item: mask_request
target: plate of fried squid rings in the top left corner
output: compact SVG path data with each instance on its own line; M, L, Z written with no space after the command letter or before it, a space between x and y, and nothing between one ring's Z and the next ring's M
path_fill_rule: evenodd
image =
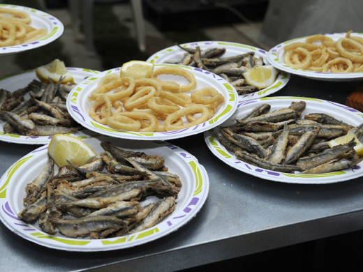
M31 50L57 40L64 25L56 17L25 6L1 4L0 54Z

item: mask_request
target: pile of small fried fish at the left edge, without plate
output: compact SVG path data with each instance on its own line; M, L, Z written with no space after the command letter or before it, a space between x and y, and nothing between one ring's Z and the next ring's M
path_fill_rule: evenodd
M67 112L66 99L75 84L54 84L32 80L24 88L10 92L0 89L0 120L3 133L49 136L77 133L80 126Z

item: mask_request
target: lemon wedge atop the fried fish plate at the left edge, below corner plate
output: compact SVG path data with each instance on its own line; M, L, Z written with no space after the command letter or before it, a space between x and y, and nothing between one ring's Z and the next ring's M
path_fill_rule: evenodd
M67 70L64 62L59 59L54 59L54 61L36 68L36 76L39 80L46 83L49 82L49 79L52 80L52 82L57 83L60 77L64 77L61 82L63 84L68 82L74 83L71 73Z

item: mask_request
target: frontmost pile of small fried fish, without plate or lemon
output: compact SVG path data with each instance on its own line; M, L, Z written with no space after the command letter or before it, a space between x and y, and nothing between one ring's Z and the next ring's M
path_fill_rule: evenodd
M18 218L48 234L103 239L140 232L175 210L182 182L163 156L128 151L110 142L90 163L69 163L54 174L50 156L28 183ZM151 199L151 200L150 200Z

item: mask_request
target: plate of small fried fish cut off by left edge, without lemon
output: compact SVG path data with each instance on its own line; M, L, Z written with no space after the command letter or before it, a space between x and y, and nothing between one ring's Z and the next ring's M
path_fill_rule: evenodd
M67 68L75 83L41 82L35 70L0 78L0 140L17 144L47 144L56 133L83 129L67 112L68 93L98 71Z

